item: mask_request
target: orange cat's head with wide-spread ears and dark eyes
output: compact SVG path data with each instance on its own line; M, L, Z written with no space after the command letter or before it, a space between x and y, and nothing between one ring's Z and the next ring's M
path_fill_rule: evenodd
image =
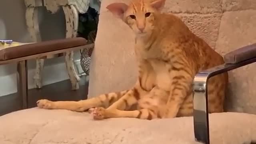
M165 0L132 0L129 5L113 3L106 8L121 18L137 36L151 34L155 26L155 15L164 7Z

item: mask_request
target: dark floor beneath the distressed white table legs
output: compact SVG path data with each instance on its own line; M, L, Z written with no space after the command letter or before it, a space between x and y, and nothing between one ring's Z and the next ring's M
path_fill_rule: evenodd
M39 99L49 100L84 100L88 94L88 81L82 76L80 80L80 89L71 90L69 80L57 82L41 89L28 90L28 107L36 106L36 101ZM0 96L0 116L21 109L20 98L17 94Z

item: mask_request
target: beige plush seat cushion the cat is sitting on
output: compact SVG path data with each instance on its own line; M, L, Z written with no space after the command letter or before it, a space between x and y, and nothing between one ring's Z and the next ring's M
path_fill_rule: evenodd
M256 115L210 114L211 144L256 142ZM92 120L86 112L30 108L0 116L0 144L200 144L193 118Z

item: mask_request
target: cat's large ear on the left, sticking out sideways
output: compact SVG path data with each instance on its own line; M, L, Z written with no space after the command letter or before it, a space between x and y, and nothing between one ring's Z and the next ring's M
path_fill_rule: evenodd
M124 12L127 10L128 5L124 3L113 3L106 7L117 18L123 18Z

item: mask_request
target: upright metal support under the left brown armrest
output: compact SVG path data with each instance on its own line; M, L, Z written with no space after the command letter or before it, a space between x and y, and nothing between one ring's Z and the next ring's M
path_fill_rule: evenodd
M22 109L28 108L28 66L26 60L17 63L17 90Z

